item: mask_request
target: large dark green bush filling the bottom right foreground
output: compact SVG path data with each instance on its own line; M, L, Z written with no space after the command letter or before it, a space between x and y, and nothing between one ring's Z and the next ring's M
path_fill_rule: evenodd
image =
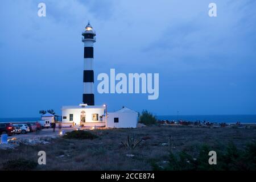
M256 170L256 142L247 144L245 150L238 150L233 143L229 143L222 151L216 150L217 164L210 165L208 152L213 150L207 145L199 147L199 154L192 157L185 151L177 154L170 152L168 165L159 168L152 164L153 170L167 171L255 171Z

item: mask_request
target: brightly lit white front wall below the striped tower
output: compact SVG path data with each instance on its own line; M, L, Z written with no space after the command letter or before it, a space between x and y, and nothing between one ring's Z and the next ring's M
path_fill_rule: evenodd
M67 119L62 119L62 122L75 122L79 125L81 120L81 111L85 111L85 122L99 122L92 120L92 114L98 114L99 120L100 116L104 114L104 108L62 109L62 117L67 117ZM73 121L69 120L69 114L73 114Z

